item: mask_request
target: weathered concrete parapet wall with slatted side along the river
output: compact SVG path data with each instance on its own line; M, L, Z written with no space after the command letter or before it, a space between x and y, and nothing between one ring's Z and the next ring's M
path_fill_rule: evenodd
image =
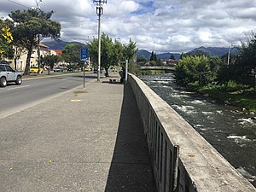
M136 76L137 99L160 192L254 192L256 189L160 96Z

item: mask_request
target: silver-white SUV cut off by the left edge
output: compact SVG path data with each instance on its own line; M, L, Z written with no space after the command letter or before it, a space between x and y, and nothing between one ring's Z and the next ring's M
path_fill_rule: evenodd
M20 85L22 83L21 73L12 69L8 64L0 63L0 87L6 87L9 82Z

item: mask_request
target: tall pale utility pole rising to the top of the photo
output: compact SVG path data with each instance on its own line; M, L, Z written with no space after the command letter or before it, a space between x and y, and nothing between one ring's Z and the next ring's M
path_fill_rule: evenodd
M103 14L102 3L107 4L107 0L93 0L93 3L96 3L96 14L98 15L98 73L97 73L97 81L100 81L101 78L101 15Z

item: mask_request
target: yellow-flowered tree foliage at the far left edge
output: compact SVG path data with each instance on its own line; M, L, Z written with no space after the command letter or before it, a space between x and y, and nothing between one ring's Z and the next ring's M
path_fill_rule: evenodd
M14 40L10 32L12 22L9 20L0 19L0 59L12 57L13 49L12 42Z

